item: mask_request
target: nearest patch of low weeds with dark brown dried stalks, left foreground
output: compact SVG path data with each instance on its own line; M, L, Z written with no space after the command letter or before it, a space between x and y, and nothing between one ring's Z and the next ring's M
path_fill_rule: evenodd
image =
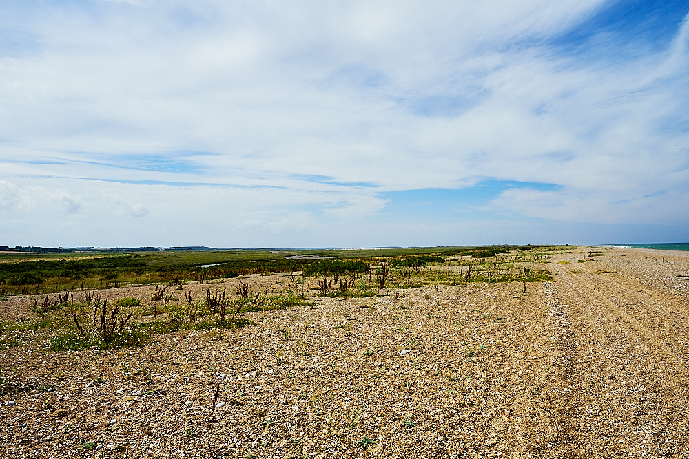
M28 343L28 333L41 331L49 332L45 348L52 351L130 348L144 345L154 334L240 328L252 323L241 317L246 312L310 304L290 292L267 295L265 290L252 292L248 284L242 285L245 288L236 295L227 295L226 289L208 289L206 298L196 301L189 295L186 304L167 298L145 306L139 299L125 297L110 307L92 290L78 294L76 300L73 293L58 295L59 301L45 295L41 303L35 301L40 306L34 308L33 319L0 322L0 350Z

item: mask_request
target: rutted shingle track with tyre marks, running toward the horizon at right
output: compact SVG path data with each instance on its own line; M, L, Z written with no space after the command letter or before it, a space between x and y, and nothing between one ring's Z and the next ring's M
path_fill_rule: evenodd
M579 259L553 260L543 286L561 384L553 456L687 457L686 301Z

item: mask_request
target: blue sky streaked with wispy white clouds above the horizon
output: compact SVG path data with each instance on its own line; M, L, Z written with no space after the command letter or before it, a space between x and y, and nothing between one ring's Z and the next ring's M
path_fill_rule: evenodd
M688 14L0 0L0 245L689 241Z

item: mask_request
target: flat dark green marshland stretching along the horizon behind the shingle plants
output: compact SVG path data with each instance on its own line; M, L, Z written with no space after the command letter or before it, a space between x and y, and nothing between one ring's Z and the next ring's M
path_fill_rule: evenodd
M529 259L525 261L538 262L546 259L548 254L566 253L567 250L570 248L563 246L199 251L146 247L112 250L21 248L0 254L0 299L11 295L129 284L203 283L208 279L251 274L302 271L307 276L349 276L353 273L361 276L366 274L366 266L378 265L381 259L390 259L391 268L407 268L416 274L426 270L426 266L442 264L446 259L457 256L499 261L501 254L521 253L528 254ZM304 256L327 257L327 260L294 258ZM339 281L335 284L339 287Z

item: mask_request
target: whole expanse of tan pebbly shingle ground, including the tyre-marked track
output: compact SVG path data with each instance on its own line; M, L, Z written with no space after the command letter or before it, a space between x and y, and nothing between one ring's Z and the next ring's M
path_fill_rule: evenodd
M0 396L0 457L689 458L689 254L588 250L526 294L313 297L143 348L8 348L3 376L34 389Z

